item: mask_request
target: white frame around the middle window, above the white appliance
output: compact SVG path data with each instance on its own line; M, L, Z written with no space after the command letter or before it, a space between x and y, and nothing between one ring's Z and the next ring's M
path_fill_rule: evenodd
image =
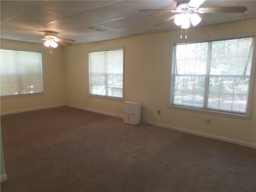
M91 94L90 93L90 56L89 54L92 52L105 52L105 51L113 51L113 50L123 50L123 83L122 83L122 98L121 97L114 97L114 96L106 96L106 95L96 95L96 94ZM89 50L87 52L88 56L88 96L92 98L100 98L100 99L108 99L108 100L116 100L116 101L124 101L124 54L125 54L125 49L124 46L118 46L114 48L104 48L104 49L96 49L96 50Z

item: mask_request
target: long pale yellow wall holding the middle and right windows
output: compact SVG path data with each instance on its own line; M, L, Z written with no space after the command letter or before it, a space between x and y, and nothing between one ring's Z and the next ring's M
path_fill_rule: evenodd
M255 35L256 20L188 29L190 40ZM252 118L241 120L216 115L168 109L170 46L180 42L180 31L133 36L65 47L67 104L122 116L123 102L88 96L88 51L125 46L124 100L140 102L142 118L202 134L256 144L255 85ZM183 40L184 41L184 40ZM157 110L161 110L161 115ZM211 124L204 119L210 118Z

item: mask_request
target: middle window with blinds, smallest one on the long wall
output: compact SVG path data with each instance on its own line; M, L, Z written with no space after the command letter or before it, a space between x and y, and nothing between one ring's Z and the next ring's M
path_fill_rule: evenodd
M90 94L123 98L123 49L89 53Z

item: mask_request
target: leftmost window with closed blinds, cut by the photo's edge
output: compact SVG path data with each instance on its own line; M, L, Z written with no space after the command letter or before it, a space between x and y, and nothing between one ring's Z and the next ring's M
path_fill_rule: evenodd
M1 96L43 92L41 53L0 51Z

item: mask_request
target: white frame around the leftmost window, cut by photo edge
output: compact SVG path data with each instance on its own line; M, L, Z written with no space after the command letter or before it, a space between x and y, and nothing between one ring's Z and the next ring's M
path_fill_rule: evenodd
M42 73L42 92L35 92L35 93L24 93L24 94L12 94L12 95L0 95L1 99L8 99L8 98L18 98L18 97L26 97L26 96L38 96L38 95L44 95L44 66L43 66L43 57L44 53L42 50L36 49L36 50L28 50L28 49L15 49L15 48L6 48L1 47L1 50L10 50L10 51L23 51L23 52L35 52L41 54L41 73Z

